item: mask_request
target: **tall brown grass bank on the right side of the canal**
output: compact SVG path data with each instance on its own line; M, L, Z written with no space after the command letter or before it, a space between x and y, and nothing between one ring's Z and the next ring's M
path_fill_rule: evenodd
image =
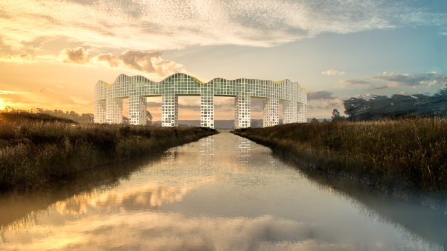
M237 129L235 134L385 190L447 191L447 120L336 120Z

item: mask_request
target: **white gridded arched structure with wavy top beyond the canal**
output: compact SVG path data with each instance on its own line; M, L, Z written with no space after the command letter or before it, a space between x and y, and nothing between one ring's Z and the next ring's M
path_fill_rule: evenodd
M214 128L214 97L235 97L235 129L250 127L250 98L263 99L263 127L307 122L307 91L290 80L272 81L214 78L208 83L177 73L160 82L143 76L121 74L112 84L98 81L94 87L95 123L122 124L122 100L129 98L129 124L146 124L146 97L162 97L162 126L178 126L178 96L200 96L201 127Z

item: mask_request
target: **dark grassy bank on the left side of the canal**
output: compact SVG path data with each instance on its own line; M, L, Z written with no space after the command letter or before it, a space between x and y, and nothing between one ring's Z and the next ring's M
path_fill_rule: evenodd
M34 189L49 179L165 151L215 133L197 127L80 124L0 113L0 192Z

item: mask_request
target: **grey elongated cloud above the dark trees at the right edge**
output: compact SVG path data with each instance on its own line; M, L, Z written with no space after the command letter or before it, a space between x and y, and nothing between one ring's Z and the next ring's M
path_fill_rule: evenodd
M424 72L422 74L398 74L395 72L368 76L371 80L388 82L389 87L431 87L434 85L443 85L447 83L447 76L438 75L437 72Z

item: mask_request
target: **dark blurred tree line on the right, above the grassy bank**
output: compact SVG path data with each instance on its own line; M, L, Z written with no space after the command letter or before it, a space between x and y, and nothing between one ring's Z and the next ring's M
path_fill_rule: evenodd
M369 100L349 98L343 101L345 116L337 109L332 111L334 120L377 120L380 118L399 118L406 115L445 116L447 114L447 85L432 96L414 94L411 96L394 94L373 96Z

